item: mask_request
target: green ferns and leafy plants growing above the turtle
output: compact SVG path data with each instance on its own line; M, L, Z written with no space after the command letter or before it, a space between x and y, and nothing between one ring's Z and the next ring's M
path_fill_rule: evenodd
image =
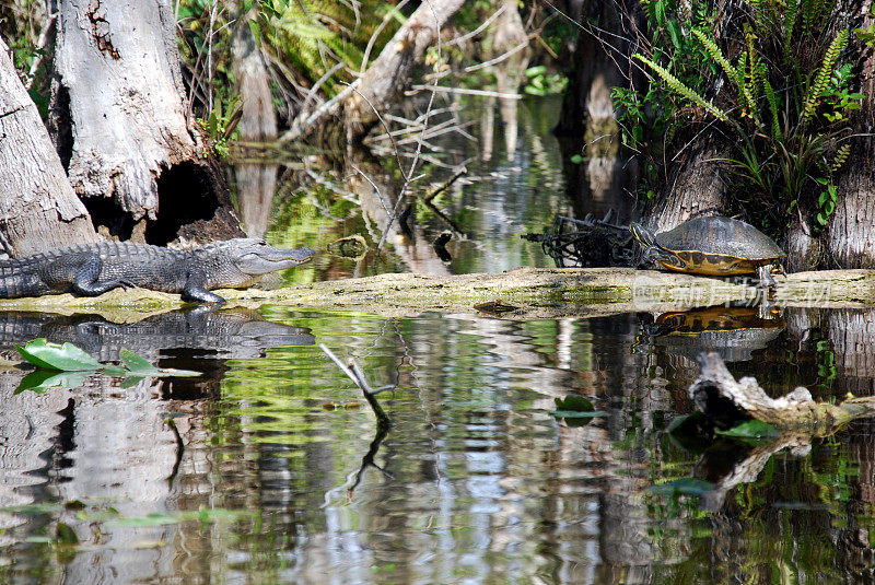
M833 175L850 153L843 124L864 98L852 91L850 32L837 30L836 0L748 0L745 14L720 26L701 1L690 10L672 0L643 4L655 32L635 58L654 81L646 91L615 91L614 101L623 141L642 153L644 167L658 166L662 154L649 134L670 140L690 118L710 119L735 136L727 162L755 187L739 206L756 202L765 223L785 225L803 204L816 229L827 225L840 197ZM727 26L736 28L723 39Z

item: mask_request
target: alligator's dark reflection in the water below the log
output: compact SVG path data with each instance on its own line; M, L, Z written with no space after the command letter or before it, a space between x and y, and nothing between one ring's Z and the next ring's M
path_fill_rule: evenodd
M119 351L128 349L161 367L203 373L197 378L162 381L164 399L218 396L226 360L254 360L264 358L268 348L315 342L305 327L267 321L258 312L243 308L199 307L152 315L136 323L113 323L98 315L0 314L0 348L11 351L13 343L40 337L56 343L69 341L102 362L118 361ZM8 372L2 386L21 375L18 371Z

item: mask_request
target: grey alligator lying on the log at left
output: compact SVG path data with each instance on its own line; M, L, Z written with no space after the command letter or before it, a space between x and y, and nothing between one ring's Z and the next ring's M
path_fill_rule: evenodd
M212 289L241 289L275 270L313 258L311 248L275 248L240 237L175 250L131 242L79 244L24 258L0 260L0 299L73 293L97 296L140 286L180 293L183 301L223 304Z

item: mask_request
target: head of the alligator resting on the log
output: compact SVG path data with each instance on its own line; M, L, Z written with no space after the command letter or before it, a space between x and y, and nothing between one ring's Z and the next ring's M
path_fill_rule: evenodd
M259 277L284 270L300 264L308 262L316 253L311 248L284 249L275 248L267 242L256 237L238 237L219 242L213 249L219 250L225 261L233 266L237 276L231 274L210 274L217 280L228 279L220 282L223 286L242 286L255 282ZM241 279L241 277L243 277ZM240 282L243 280L243 282Z

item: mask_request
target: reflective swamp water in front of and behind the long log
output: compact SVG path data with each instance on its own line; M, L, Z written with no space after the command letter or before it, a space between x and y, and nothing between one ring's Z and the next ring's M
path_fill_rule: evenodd
M416 208L390 255L324 254L288 278L546 266L516 234L604 201L593 191L563 203L558 147L527 107L513 154L470 163L489 179L439 201L467 236L450 265L418 245L446 222ZM317 189L282 189L273 213L285 223L275 224L288 227L269 233L275 243L380 233L376 212L365 221ZM686 390L705 348L773 396L796 385L821 400L873 394L875 311L516 320L264 306L119 320L0 315L4 351L47 337L102 361L128 348L203 373L15 394L24 373L0 372L0 581L873 578L871 422L784 449L698 440L673 422L692 411ZM318 343L354 358L372 386L395 385L377 397L390 428ZM569 396L597 416L569 414Z

